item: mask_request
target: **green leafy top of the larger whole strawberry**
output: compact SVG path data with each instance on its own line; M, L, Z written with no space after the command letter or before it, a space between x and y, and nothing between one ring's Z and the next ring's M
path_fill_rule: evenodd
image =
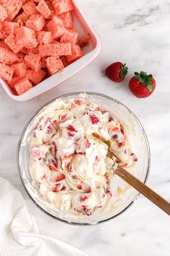
M141 82L141 84L146 85L146 88L151 92L153 90L153 76L152 74L147 74L141 71L140 74L135 72L135 79Z

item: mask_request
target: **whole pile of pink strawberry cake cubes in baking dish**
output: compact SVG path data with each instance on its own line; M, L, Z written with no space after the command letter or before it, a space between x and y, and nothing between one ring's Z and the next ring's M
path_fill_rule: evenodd
M73 11L71 0L0 1L0 77L14 94L83 56Z

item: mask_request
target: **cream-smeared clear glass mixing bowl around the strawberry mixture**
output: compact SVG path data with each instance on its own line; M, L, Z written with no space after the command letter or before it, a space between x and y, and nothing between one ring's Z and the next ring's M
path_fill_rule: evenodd
M145 183L146 179L148 178L150 168L150 149L146 132L144 131L137 117L132 111L130 111L130 109L119 101L100 93L69 93L62 95L59 98L66 101L69 98L79 97L85 98L86 101L97 103L99 106L109 110L115 114L118 119L120 119L126 129L126 135L128 136L128 140L130 141L133 151L138 156L138 162L135 163L135 166L128 168L128 171L134 174L138 179L140 179L140 181ZM130 187L130 185L128 185L126 182L122 181L122 179L120 179L120 177L116 174L112 179L113 196L109 201L109 204L106 208L104 208L104 210L95 211L93 216L73 216L69 213L53 208L52 205L40 197L37 189L32 184L32 177L30 176L29 171L29 141L37 120L40 119L40 116L42 116L45 109L48 108L49 104L53 103L55 100L56 98L46 103L35 113L34 116L32 116L32 119L30 119L26 127L24 127L19 140L17 150L17 165L19 175L22 179L22 184L24 185L27 194L30 196L32 201L35 202L35 205L37 205L37 207L40 208L40 210L42 210L44 213L57 220L71 224L94 225L115 218L119 216L120 213L125 213L125 210L127 210L130 205L133 205L133 202L135 202L135 200L138 198L139 193L133 189L133 187Z

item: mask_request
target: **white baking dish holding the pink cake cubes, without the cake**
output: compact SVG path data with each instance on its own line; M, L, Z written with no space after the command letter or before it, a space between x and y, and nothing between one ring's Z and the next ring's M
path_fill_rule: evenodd
M79 31L80 35L91 35L89 46L83 48L84 56L70 64L68 67L65 67L61 72L53 74L53 76L40 82L40 84L36 85L34 88L28 90L22 95L14 95L13 91L9 88L9 85L7 85L6 82L0 78L2 87L15 101L28 101L31 98L35 98L36 96L55 88L55 86L61 84L61 82L67 80L69 77L73 76L73 74L76 74L81 69L86 67L86 65L99 54L101 46L97 33L95 33L93 27L91 27L91 24L86 19L84 12L82 12L76 1L72 0L72 2L74 6L74 26Z

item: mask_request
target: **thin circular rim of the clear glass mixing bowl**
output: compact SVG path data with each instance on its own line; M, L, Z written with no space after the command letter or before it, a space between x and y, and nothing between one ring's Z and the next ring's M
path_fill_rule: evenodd
M70 95L80 95L80 94L87 94L87 95L96 95L96 96L100 96L100 97L103 97L103 98L107 98L109 101L115 101L115 103L118 103L120 105L122 105L129 113L130 115L132 115L134 118L135 118L135 121L137 121L141 131L143 132L143 137L145 138L145 142L146 142L146 148L147 148L147 154L148 154L148 168L147 168L147 171L146 171L146 177L145 177L145 180L144 180L144 184L146 184L147 182L147 179L148 179L148 175L149 175L149 171L150 171L150 166L151 166L151 150L150 150L150 146L149 146L149 143L148 143L148 137L146 135L146 132L145 132L145 129L143 128L143 125L140 123L139 119L137 116L135 116L135 114L133 114L133 111L131 111L127 106L125 106L123 103L121 103L120 101L117 101L115 98L112 98L112 97L109 97L108 95L105 95L105 94L102 94L102 93L93 93L93 92L74 92L74 93L66 93L66 94L63 94L61 96L58 96L58 97L55 97L53 98L52 100L48 101L47 103L45 103L43 106L41 106L39 109L37 109L37 111L35 112L35 114L29 119L29 121L27 121L27 124L24 126L24 129L22 130L22 133L19 137L19 142L18 142L18 145L17 145L17 169L19 171L19 176L20 176L20 179L22 181L22 184L24 186L24 189L26 190L27 192L27 195L30 197L30 199L32 200L32 202L35 203L35 205L37 206L37 208L39 208L43 213L46 213L48 216L50 216L51 218L54 218L55 220L58 220L58 221L61 221L63 223L67 223L69 225L73 225L73 226L94 226L94 225L98 225L100 223L105 223L107 221L111 221L113 218L116 218L118 216L120 216L122 213L124 213L126 210L128 210L128 208L130 208L130 206L132 206L134 204L134 202L136 200L138 200L138 197L140 196L140 193L138 192L137 195L135 195L134 199L132 202L129 203L129 205L120 211L120 213L117 213L115 216L112 216L110 218L107 218L105 220L102 220L102 221L98 221L97 223L95 224L91 224L91 223L76 223L76 222L68 222L66 220L62 220L61 218L58 218L58 217L55 217L53 216L52 214L48 213L48 211L44 210L40 205L37 204L37 202L35 202L34 198L32 198L32 196L30 195L30 193L27 191L27 187L25 186L24 184L24 181L22 179L22 174L21 174L21 171L20 171L20 167L19 167L19 151L20 151L20 146L21 146L21 142L22 142L22 138L23 138L23 135L24 135L24 132L26 131L27 127L29 126L30 122L32 121L32 119L35 118L35 116L43 109L45 108L45 106L48 106L50 103L52 103L53 101L55 100L58 100L58 99L62 99L64 97L68 97Z

